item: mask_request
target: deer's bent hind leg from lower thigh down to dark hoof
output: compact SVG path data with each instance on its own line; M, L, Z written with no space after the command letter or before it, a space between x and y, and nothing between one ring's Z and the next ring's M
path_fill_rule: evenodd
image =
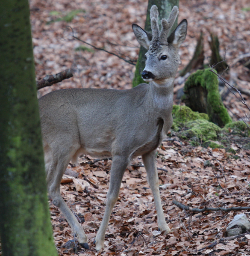
M56 156L55 154L51 158L51 164L49 166L49 170L47 171L48 192L53 200L53 204L60 209L71 226L71 229L73 230L79 244L83 248L88 249L87 235L60 194L62 176L71 160L71 157L72 155L70 154L63 154L63 156L61 155L60 157Z

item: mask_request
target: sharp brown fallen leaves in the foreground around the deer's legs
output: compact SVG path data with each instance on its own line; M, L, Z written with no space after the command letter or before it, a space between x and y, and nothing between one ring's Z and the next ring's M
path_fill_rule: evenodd
M216 154L216 155L215 155ZM171 155L171 157L165 157ZM236 155L247 155L238 149ZM171 233L164 236L158 231L157 214L146 173L135 159L126 170L118 202L109 221L102 252L94 250L94 237L100 226L109 187L111 161L99 161L89 166L89 158L80 159L80 167L71 167L78 178L64 176L70 183L62 184L62 194L72 210L82 220L88 235L89 250L76 247L79 255L228 255L233 252L250 252L250 246L239 237L223 240L224 229L238 213L204 211L194 213L176 207L176 199L190 208L244 207L248 206L249 159L232 158L225 150L190 147L182 142L179 148L174 142L163 142L158 149L157 163L167 169L159 170L160 192L163 208ZM210 161L209 166L203 166ZM181 168L180 168L181 166ZM237 168L236 168L237 167ZM238 169L241 170L238 170ZM237 169L237 170L235 170ZM84 174L83 174L84 173ZM88 176L86 176L86 174ZM85 177L92 181L87 182ZM95 187L98 185L98 188ZM74 250L62 247L73 239L68 223L57 208L51 208L56 245L61 255L74 255ZM56 217L57 216L57 217ZM60 223L59 223L60 220ZM221 240L222 239L222 240ZM244 249L244 250L243 250ZM221 254L219 254L221 253Z

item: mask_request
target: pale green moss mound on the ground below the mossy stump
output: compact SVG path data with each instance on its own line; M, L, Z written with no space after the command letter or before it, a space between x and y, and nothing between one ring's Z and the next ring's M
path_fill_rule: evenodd
M221 128L205 119L197 119L186 123L187 130L182 131L180 136L183 139L200 141L215 140L221 131Z

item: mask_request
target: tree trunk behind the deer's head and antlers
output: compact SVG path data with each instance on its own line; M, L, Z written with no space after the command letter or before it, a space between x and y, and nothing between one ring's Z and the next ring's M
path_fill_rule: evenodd
M145 27L144 29L146 31L151 32L151 25L150 25L150 8L152 5L156 5L158 7L158 12L159 12L159 24L160 20L162 18L168 18L170 15L170 12L174 6L179 6L179 0L148 0L148 6L147 6L147 18L145 22ZM173 31L177 26L177 19L172 27ZM135 77L132 82L132 86L135 87L140 83L145 83L144 80L141 78L141 72L143 71L145 67L145 54L147 50L141 46L140 51L139 51L139 56L138 60L136 63L136 69L135 69Z

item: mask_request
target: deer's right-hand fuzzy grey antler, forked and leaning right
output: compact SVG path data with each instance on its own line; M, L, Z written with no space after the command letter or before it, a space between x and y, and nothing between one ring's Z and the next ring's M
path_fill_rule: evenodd
M174 21L176 20L178 13L179 13L178 7L174 6L168 19L167 20L162 19L161 21L162 30L159 35L160 44L168 45L168 34L169 34L169 31L171 30L171 27L173 27L174 25Z

